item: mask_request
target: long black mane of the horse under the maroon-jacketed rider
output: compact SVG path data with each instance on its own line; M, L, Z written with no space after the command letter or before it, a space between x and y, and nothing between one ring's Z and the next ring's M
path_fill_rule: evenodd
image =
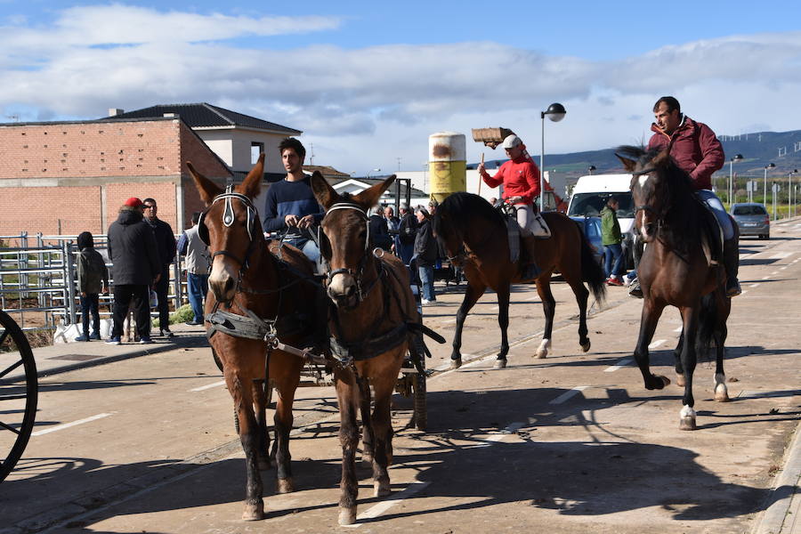
M655 194L666 199L667 211L660 231L667 243L683 251L692 244L700 244L703 233L700 230L707 228L708 217L705 216L706 207L702 206L695 196L695 187L690 174L677 166L673 158L663 157L664 150L622 146L616 153L637 160L643 168L653 164L661 169L662 179L659 180L659 188ZM637 176L632 177L632 188L637 178Z

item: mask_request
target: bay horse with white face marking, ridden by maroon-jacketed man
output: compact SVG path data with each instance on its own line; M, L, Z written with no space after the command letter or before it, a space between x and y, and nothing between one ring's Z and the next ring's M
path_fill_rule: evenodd
M643 315L635 360L647 389L662 389L670 380L651 374L648 345L665 306L676 306L683 329L674 355L676 376L684 386L679 428L695 430L692 373L699 352L716 344L715 400L729 400L724 375L726 320L732 301L725 295L726 274L710 261L718 232L714 215L693 193L690 176L676 166L667 151L620 147L618 158L632 174L635 225L646 244L637 266L643 287ZM737 228L737 224L732 225Z

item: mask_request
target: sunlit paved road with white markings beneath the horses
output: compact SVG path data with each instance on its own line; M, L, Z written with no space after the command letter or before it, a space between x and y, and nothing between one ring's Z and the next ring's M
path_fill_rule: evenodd
M497 303L485 295L465 329L472 361L429 380L426 433L405 426L409 401L397 399L393 494L372 498L362 470L356 528L801 531L794 515L785 517L798 476L785 449L799 418L799 236L792 222L775 225L770 241L742 242L745 292L733 302L726 360L732 402L712 400L714 362L701 362L692 433L678 430L676 385L643 388L630 357L642 301L624 288L611 287L606 306L594 309L593 346L582 353L572 295L556 284L554 352L534 360L540 303L536 291L517 287L510 366L501 370L492 368ZM461 294L439 288L443 303L426 307L425 320L449 337ZM651 345L659 374L673 376L679 326L668 310ZM0 533L342 530L333 388L299 392L295 493L275 495L274 472L263 473L268 518L240 522L244 465L231 399L201 333L184 330L155 347L162 352L121 360L114 356L139 347L91 345L96 362L104 353L112 361L57 372L66 360L53 360L55 352L41 360L56 374L41 380L36 435L0 485ZM432 348L429 367L447 365L449 346ZM797 501L789 510L798 513Z

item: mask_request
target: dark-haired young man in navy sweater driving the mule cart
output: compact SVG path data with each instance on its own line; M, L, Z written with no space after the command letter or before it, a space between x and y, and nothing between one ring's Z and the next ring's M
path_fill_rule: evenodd
M294 137L287 137L280 142L279 151L287 177L267 190L263 228L265 232L287 230L285 240L316 263L320 249L311 239L310 229L320 224L325 212L314 198L311 176L303 174L306 149Z

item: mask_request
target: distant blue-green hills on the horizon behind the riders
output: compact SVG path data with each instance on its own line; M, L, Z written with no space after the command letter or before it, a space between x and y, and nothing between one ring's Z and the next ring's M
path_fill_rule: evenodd
M729 175L728 161L735 154L742 154L742 161L735 163L733 170L740 178L763 178L765 166L774 163L775 168L768 170L768 178L787 178L790 171L801 169L801 130L791 132L756 132L754 134L718 135L723 143L726 154L726 164L718 171L718 176ZM589 166L595 166L593 174L624 172L620 161L615 157L614 148L606 150L590 150L587 152L572 152L570 154L546 153L546 170L563 173L568 182L575 182L579 176L589 174ZM539 155L533 155L539 164ZM506 159L487 162L488 168L497 163L500 165ZM468 166L475 168L475 165Z

